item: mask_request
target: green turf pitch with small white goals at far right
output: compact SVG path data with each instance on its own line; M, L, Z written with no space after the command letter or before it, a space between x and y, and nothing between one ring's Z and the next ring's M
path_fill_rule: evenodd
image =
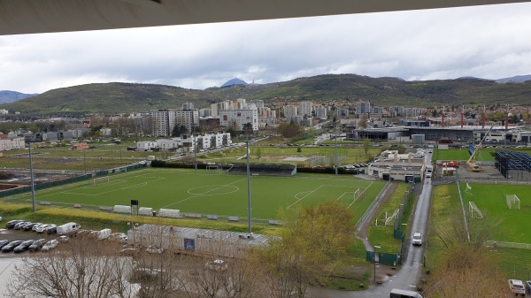
M528 186L492 185L469 183L472 195L465 195L467 202L474 202L485 218L500 222L496 233L497 241L531 243L529 218L531 218L531 193ZM461 185L465 191L466 184ZM517 195L520 210L510 210L505 195ZM468 203L466 203L468 211ZM473 219L481 220L481 219Z

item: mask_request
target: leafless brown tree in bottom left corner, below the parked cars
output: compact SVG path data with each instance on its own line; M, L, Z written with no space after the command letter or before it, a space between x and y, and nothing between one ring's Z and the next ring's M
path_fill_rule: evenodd
M9 281L13 298L135 297L127 281L133 259L118 257L109 243L76 239L50 252L25 257ZM31 277L28 279L27 277Z

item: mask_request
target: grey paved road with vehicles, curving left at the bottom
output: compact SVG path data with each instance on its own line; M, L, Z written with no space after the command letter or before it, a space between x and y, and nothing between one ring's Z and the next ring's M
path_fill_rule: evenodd
M427 153L427 161L431 161L432 154ZM418 187L418 186L417 186ZM432 181L424 180L422 192L417 201L411 226L411 233L419 232L426 234L427 220L429 218L429 205L431 200ZM373 286L366 291L335 291L326 289L312 289L312 297L334 297L334 298L387 298L393 288L414 290L423 271L424 247L413 247L409 241L406 241L407 252L402 267L396 271L396 275L383 280L379 286ZM378 271L378 266L376 268Z

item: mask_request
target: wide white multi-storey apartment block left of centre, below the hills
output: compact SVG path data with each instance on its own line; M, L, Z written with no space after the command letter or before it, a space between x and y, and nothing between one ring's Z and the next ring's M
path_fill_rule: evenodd
M193 126L199 126L199 111L197 110L153 110L150 111L153 120L154 135L168 136L172 134L176 124L186 126L192 132Z

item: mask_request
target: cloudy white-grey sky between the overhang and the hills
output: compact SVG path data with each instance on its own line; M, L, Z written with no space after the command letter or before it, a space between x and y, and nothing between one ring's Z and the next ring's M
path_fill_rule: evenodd
M531 3L0 36L0 90L96 82L203 89L322 73L404 80L531 73Z

